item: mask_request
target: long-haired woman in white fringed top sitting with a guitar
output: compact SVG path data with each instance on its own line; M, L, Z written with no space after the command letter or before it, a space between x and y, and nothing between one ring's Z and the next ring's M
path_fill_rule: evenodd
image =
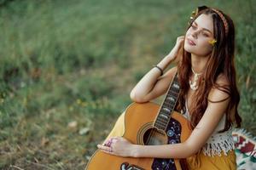
M236 169L231 136L240 97L234 66L235 28L230 17L216 8L198 8L184 37L131 91L131 99L143 103L165 94L175 73L181 86L177 108L189 120L192 133L183 143L131 144L113 137L98 148L116 156L187 158L189 169ZM183 53L180 54L179 50ZM162 75L166 67L177 66Z

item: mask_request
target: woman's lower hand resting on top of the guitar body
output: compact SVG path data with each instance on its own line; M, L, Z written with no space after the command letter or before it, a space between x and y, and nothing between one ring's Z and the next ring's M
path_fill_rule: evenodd
M104 142L97 144L97 147L108 154L114 156L128 157L132 156L134 144L122 137L112 137Z

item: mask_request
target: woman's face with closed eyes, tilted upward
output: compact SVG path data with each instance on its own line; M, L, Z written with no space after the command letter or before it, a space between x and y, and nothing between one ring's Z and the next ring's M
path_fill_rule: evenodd
M209 14L201 14L194 20L186 32L184 49L198 56L207 56L212 52L213 20Z

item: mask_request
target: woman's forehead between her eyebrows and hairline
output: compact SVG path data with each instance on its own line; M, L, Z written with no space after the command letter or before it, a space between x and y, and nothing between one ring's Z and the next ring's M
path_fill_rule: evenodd
M213 32L213 20L211 14L201 14L195 19L195 22L201 28L206 28Z

